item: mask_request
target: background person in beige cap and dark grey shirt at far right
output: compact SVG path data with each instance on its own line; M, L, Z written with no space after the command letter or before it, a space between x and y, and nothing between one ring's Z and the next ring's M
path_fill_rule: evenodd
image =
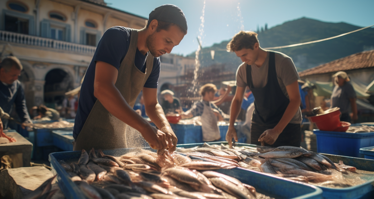
M356 104L357 96L352 84L349 83L350 80L347 73L339 71L332 77L334 78L335 87L331 94L330 108L340 108L340 121L351 122L351 117L349 115L349 106L351 106L353 114L352 120L356 121L358 119Z

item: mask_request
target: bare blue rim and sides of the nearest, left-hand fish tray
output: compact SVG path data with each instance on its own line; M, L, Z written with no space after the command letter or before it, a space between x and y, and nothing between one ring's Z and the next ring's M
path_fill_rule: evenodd
M200 144L200 146L201 145L202 144ZM183 147L185 146L186 145ZM150 148L144 149L151 150ZM131 149L104 150L103 152L106 155L121 156L129 151L131 151ZM85 198L85 196L79 187L70 180L67 172L59 164L59 161L77 161L80 155L80 151L58 152L49 155L52 172L58 174L57 179L59 187L65 197L69 199ZM260 172L248 172L248 170L243 168L233 168L230 170L220 169L215 171L235 177L242 183L254 186L257 192L276 199L322 199L322 190L316 186L284 180Z

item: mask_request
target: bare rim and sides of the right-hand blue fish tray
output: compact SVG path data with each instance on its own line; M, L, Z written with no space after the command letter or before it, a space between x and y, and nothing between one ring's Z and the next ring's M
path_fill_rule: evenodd
M204 143L196 143L196 144L180 144L179 147L192 148L192 147L201 147ZM227 144L227 142L210 142L212 144ZM248 147L257 147L253 144L244 144L244 143L236 143L237 147L248 146ZM374 148L374 147L371 147ZM339 155L330 155L330 154L323 154L327 156L327 158L331 159L332 162L339 162L343 161L345 165L349 165L352 167L356 167L358 170L362 171L371 171L374 172L374 160L370 159L363 159L363 158L352 158L348 156L339 156ZM242 168L240 168L242 169ZM263 175L268 175L265 173L243 169L246 172L256 172ZM277 178L273 175L269 175L271 177ZM235 176L233 176L235 177ZM323 186L318 186L323 190L323 197L325 199L373 199L374 198L374 176L373 177L363 177L367 182L363 184L359 184L352 187L346 188L328 188Z

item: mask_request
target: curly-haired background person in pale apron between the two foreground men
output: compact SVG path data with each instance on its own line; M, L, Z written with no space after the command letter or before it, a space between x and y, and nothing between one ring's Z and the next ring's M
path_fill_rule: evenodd
M216 91L217 87L214 84L203 85L199 90L203 99L196 102L190 110L181 115L182 119L201 116L204 142L212 142L221 138L217 122L223 121L225 114L214 103L211 103Z

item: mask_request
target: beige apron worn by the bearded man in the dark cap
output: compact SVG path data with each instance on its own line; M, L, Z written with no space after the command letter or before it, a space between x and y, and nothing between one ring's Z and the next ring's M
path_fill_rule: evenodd
M138 30L131 29L130 46L120 65L115 84L131 107L134 107L135 100L153 68L151 53L148 53L147 56L145 73L135 66L137 43ZM73 144L73 150L85 149L88 151L92 147L95 149L126 148L126 128L127 124L110 114L99 100L96 100L77 140Z

